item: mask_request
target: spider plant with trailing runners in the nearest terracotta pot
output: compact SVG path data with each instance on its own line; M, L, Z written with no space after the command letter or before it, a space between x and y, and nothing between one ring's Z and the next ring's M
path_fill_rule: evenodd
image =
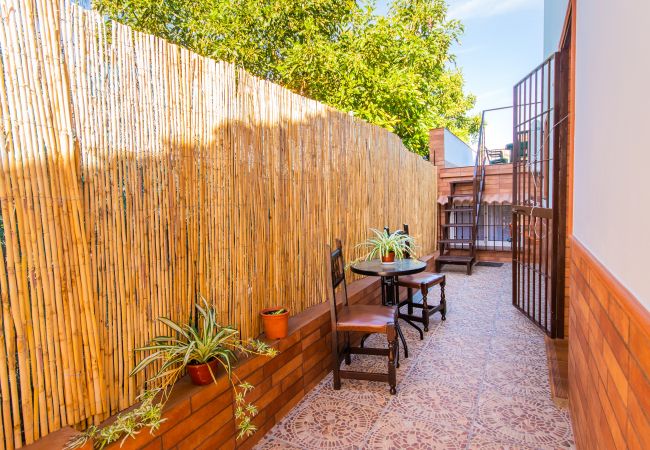
M257 407L246 401L246 395L254 388L248 382L242 382L233 372L233 366L239 356L251 354L274 357L278 351L264 342L249 339L243 342L239 331L230 326L221 326L217 321L217 310L201 297L201 304L196 304L195 324L180 325L173 320L160 317L158 320L172 332L172 336L157 336L149 345L136 351L151 352L142 359L130 375L133 376L152 365L159 365L148 384L158 387L146 390L141 396L137 408L118 414L115 422L106 427L91 426L82 434L75 436L66 445L66 449L83 446L93 441L93 447L103 449L107 445L129 437L135 437L143 428L150 428L153 433L166 419L162 410L169 398L176 381L182 376L189 364L206 364L217 360L225 369L233 390L235 400L235 421L239 430L237 439L248 436L257 429L252 419L257 415ZM215 374L210 369L213 381Z

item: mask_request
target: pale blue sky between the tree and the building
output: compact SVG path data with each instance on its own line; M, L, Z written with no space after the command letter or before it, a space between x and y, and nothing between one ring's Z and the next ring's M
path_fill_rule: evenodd
M389 0L378 0L385 12ZM512 105L512 87L543 60L544 0L447 0L449 16L465 26L454 47L475 113ZM492 113L488 146L511 142L512 113ZM491 142L492 141L492 142Z

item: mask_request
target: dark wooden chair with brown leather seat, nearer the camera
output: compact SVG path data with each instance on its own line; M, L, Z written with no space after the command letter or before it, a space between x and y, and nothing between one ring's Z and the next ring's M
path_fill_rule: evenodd
M332 286L330 310L332 317L332 362L334 368L334 389L341 389L341 379L356 379L369 381L384 381L390 386L390 393L395 394L395 354L397 353L397 307L382 305L348 305L348 289L345 281L345 263L341 241L336 240L336 248L332 251L327 246L327 274ZM336 289L343 285L343 304L337 308ZM350 345L350 333L380 333L386 335L387 348L362 348ZM339 345L339 333L344 335L342 345ZM387 373L357 372L341 370L341 362L351 363L350 355L377 355L388 359Z

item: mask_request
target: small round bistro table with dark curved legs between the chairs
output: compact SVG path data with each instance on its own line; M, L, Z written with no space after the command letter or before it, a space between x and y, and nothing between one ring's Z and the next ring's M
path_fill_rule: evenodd
M392 264L382 263L379 259L372 259L370 261L359 261L354 263L350 266L350 270L359 275L381 277L381 303L383 305L396 305L397 308L399 308L399 287L397 286L397 277L400 275L413 275L423 272L426 267L426 263L417 259L398 259ZM409 325L418 330L420 332L420 339L424 338L424 333L420 327L403 317L399 312L398 317L402 320L406 320ZM404 357L408 358L408 346L406 345L406 339L404 339L402 329L398 323L395 324L395 327L397 328L397 334L399 334L402 346L404 347ZM364 336L361 340L362 347L366 337L367 336Z

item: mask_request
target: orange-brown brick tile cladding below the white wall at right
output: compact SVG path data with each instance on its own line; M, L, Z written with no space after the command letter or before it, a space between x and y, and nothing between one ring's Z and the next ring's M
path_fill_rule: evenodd
M650 448L650 312L571 243L569 399L577 447Z

